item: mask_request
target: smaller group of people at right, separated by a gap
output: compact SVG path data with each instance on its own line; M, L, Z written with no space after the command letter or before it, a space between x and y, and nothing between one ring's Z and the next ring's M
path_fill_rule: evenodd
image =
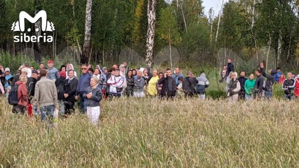
M287 73L287 79L278 67L271 69L269 74L265 72L264 63L260 64L260 68L255 70L255 75L250 74L249 79L245 76L245 72L238 74L234 72L232 60L227 60L227 65L223 66L220 82L226 82L225 92L228 96L228 101L235 102L240 99L250 100L262 97L271 99L273 96L273 85L280 84L285 92L285 99L294 99L299 97L299 75L294 72ZM266 81L264 80L266 78Z

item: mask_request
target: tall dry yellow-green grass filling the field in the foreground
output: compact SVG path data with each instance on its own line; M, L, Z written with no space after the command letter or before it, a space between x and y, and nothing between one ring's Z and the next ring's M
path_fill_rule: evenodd
M48 130L0 103L1 167L298 167L296 101L122 99Z

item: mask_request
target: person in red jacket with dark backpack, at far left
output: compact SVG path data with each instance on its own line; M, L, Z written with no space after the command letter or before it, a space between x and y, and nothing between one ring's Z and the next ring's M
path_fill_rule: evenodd
M18 98L17 104L13 105L12 107L12 112L15 114L20 113L24 115L26 106L28 105L26 83L27 83L27 76L25 75L21 75L19 81L15 83L17 85L17 98Z

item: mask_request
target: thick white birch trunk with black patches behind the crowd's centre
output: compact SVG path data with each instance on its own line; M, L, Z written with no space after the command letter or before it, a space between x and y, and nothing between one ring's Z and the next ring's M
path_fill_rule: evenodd
M147 34L147 58L146 66L153 66L153 42L154 42L154 30L155 30L155 9L157 1L148 1L148 34Z

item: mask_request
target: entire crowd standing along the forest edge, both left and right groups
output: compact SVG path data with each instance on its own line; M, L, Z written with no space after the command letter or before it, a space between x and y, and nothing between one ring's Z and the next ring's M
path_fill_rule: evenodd
M220 82L225 82L225 92L228 101L235 102L240 99L261 99L273 96L273 85L282 84L287 99L299 96L299 76L289 72L287 79L281 69L273 69L267 74L264 64L254 74L245 76L245 72L238 74L234 71L232 60L228 59L223 66ZM91 123L97 124L100 116L100 101L111 100L114 97L145 97L157 99L174 99L176 97L205 99L205 90L209 87L206 75L202 73L195 77L188 71L184 77L180 68L175 71L167 68L164 73L150 68L130 69L127 62L121 65L113 64L111 68L97 65L81 66L81 75L72 64L62 65L59 70L54 62L49 60L47 68L43 63L35 69L28 63L19 67L15 76L9 68L3 69L0 65L0 91L7 97L9 104L13 105L12 112L28 116L33 114L53 121L53 111L58 109L62 116L67 118L75 110L76 101L80 104L82 114L87 113ZM264 81L265 77L267 80ZM39 110L38 110L39 107ZM34 112L33 112L34 111Z

